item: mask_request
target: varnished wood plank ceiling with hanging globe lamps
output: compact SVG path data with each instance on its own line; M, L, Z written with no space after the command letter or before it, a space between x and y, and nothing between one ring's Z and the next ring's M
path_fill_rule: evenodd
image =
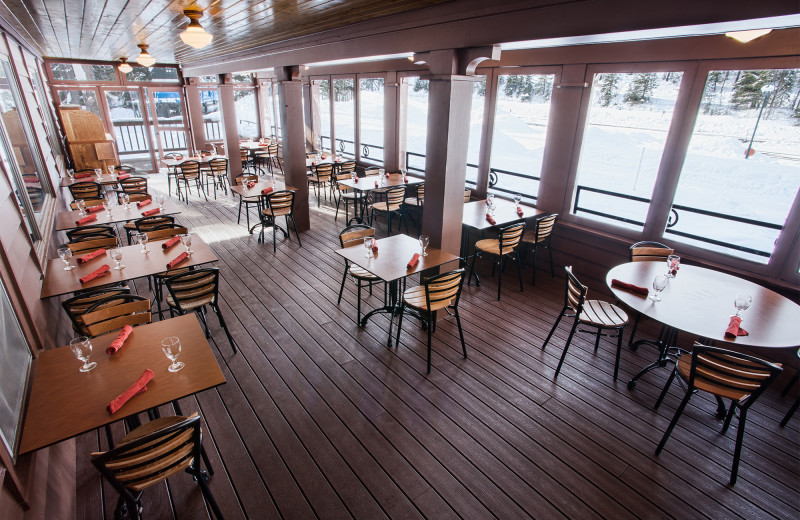
M42 56L117 60L150 46L159 63L187 63L285 41L452 0L0 0L0 16ZM179 34L199 7L211 45L195 50Z

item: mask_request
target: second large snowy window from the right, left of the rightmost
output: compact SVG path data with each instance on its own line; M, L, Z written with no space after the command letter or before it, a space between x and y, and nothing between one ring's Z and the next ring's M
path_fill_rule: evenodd
M641 230L682 72L593 75L572 213Z

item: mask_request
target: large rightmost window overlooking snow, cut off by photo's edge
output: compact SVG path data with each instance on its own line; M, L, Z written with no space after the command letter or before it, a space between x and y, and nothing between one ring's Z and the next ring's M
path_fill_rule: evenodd
M799 97L800 69L708 72L667 236L769 261L800 187Z

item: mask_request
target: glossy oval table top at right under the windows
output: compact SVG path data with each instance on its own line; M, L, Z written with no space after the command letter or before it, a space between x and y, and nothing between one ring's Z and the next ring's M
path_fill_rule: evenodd
M611 280L647 287L653 292L653 278L667 271L666 262L629 262L608 272L606 283L626 305L656 321L722 343L753 347L797 347L800 334L800 305L780 294L729 274L704 267L681 264L675 278L654 302L623 289L611 287ZM733 299L737 293L749 294L753 303L742 311L742 327L749 336L725 338L730 317L736 314Z

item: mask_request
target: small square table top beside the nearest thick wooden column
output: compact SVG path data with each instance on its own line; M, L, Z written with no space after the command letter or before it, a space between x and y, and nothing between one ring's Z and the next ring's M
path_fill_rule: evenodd
M363 246L337 249L336 253L387 282L410 276L431 267L438 267L460 258L447 251L428 246L428 256L420 256L419 263L413 269L408 269L408 261L414 256L414 253L422 252L419 240L408 235L393 235L388 238L382 238L376 243L378 244L378 252L371 254L369 258L367 258L366 249Z

